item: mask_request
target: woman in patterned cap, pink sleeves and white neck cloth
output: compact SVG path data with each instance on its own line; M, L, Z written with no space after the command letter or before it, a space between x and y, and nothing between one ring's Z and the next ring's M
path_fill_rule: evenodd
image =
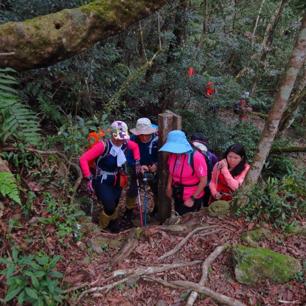
M118 172L126 161L127 153L132 150L136 173L141 171L140 154L138 144L130 140L127 125L123 121L115 121L111 125L111 139L100 141L80 157L80 166L87 180L87 191L95 192L97 199L104 205L100 214L99 225L108 227L114 233L121 228L116 224L118 216L118 204L122 192L119 183ZM92 187L93 175L88 163L95 162L95 187Z

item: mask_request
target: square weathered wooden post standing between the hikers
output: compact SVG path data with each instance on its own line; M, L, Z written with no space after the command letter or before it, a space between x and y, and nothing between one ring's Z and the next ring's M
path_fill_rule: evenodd
M170 111L158 115L158 146L161 148L169 132L182 129L182 117ZM159 152L158 219L164 223L171 216L171 199L166 196L169 152Z

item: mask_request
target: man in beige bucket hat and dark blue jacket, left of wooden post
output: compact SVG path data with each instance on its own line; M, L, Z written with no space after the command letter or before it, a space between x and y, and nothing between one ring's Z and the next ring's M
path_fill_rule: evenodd
M147 183L153 193L154 209L150 216L157 215L158 208L158 129L157 126L152 126L148 118L140 118L137 120L135 129L131 129L131 140L136 142L140 151L140 165L141 172L147 171ZM129 164L133 164L133 155L127 156ZM143 183L141 176L137 176L134 169L132 169L131 183L129 189L126 191L126 210L123 215L123 220L129 222L132 218L133 209L136 206L136 199L138 195L137 178L139 185Z

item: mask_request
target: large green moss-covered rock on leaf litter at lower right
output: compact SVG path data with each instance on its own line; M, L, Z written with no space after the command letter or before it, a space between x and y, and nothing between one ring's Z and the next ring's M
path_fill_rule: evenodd
M301 270L298 260L265 248L248 248L243 245L233 246L235 275L238 282L253 284L260 279L286 283Z

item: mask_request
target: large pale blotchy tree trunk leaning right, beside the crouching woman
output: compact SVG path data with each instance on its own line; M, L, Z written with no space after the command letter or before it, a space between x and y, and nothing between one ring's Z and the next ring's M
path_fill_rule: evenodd
M245 205L247 196L245 190L250 189L256 184L266 158L269 154L272 142L277 133L279 121L284 113L287 100L294 86L297 74L303 64L306 56L306 12L304 13L301 27L292 50L292 54L288 61L285 74L275 95L269 116L266 120L265 127L257 146L256 153L251 163L250 169L247 171L244 182L242 184L242 196L238 199L237 205Z

